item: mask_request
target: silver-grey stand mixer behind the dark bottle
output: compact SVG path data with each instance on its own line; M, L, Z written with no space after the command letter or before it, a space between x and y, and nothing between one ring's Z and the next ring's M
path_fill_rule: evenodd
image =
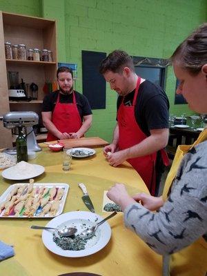
M16 126L24 127L26 129L26 139L28 151L41 151L41 148L37 144L37 140L34 136L34 131L32 126L37 125L39 121L39 116L37 113L32 111L12 111L8 112L3 117L0 117L3 121L3 126L5 128L15 128ZM16 155L17 150L15 148L6 148L3 150L10 155Z

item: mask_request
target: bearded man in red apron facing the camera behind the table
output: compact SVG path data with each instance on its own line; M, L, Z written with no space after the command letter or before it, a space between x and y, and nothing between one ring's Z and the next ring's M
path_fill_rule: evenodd
M88 99L73 90L72 70L57 70L59 90L43 99L43 125L48 129L47 141L74 139L84 135L92 124L92 112Z

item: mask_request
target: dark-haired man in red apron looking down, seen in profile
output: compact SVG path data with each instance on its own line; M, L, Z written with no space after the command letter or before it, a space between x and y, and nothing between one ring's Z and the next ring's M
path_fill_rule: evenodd
M155 195L158 151L168 164L163 150L168 144L168 98L161 88L136 75L132 59L124 51L110 53L102 61L100 72L119 94L113 141L103 153L115 167L127 160Z

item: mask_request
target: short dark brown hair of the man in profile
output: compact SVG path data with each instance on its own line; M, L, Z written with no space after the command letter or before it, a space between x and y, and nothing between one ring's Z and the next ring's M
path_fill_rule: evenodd
M135 66L128 53L122 50L115 50L111 52L106 59L101 61L99 72L101 74L106 73L106 71L121 73L123 72L124 67L128 67L135 72Z

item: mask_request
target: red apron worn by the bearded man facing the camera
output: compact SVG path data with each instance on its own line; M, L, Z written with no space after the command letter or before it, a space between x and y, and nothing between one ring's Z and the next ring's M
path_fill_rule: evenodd
M74 91L72 91L72 99L72 103L60 103L58 94L57 102L52 112L52 123L62 133L77 132L82 126ZM48 132L47 141L55 140L58 140L58 138Z

